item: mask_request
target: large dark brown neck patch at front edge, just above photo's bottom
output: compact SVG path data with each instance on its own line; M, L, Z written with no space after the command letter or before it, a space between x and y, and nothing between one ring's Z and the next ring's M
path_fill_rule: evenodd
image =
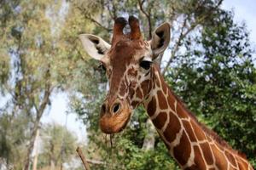
M181 165L185 165L189 160L191 145L186 133L182 134L180 143L173 149L173 155Z

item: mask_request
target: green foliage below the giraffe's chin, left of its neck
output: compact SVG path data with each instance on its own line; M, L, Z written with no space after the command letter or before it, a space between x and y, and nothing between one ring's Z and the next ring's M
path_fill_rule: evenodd
M102 159L106 165L91 165L93 169L177 169L165 144L158 137L154 150L142 150L146 135L147 115L140 107L134 112L130 125L113 137L90 131L87 155ZM160 165L161 164L161 165Z

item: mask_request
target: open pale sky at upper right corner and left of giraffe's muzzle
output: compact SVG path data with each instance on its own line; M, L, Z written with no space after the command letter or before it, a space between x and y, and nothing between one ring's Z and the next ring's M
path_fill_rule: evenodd
M233 10L235 21L238 23L246 22L247 30L250 32L250 39L256 44L256 5L254 0L224 0L222 8ZM84 124L78 120L75 114L68 114L67 94L54 94L52 97L51 110L43 116L42 122L55 122L76 134L79 141L86 140Z

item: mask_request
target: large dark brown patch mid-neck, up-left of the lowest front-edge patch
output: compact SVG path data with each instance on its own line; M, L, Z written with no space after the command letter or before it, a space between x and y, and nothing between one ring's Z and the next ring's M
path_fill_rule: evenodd
M170 112L169 116L170 121L164 132L164 136L166 137L166 140L171 143L174 139L176 139L176 134L179 132L181 124L178 121L177 116L173 115L173 113Z

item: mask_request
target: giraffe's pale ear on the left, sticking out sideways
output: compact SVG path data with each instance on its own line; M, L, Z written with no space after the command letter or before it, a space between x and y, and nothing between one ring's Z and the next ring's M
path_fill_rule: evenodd
M91 34L81 34L79 38L87 54L97 60L102 59L110 48L108 42L105 42L101 37L96 37Z

